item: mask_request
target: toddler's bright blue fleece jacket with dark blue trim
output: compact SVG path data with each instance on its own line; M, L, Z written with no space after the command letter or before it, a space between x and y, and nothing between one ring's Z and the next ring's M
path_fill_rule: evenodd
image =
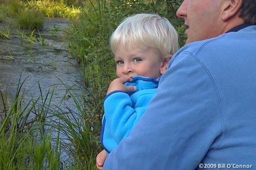
M125 85L136 86L137 90L128 94L123 91L113 91L104 101L105 113L100 140L108 153L129 135L130 130L146 111L150 99L156 93L158 81L138 75Z

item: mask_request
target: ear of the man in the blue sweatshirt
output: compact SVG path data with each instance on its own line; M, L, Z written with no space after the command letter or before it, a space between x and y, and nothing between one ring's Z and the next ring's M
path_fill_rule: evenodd
M223 12L221 19L227 21L228 19L236 16L241 9L243 0L225 0L223 2Z

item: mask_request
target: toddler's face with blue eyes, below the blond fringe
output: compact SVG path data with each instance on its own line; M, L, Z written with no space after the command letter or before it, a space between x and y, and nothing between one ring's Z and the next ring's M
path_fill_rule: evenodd
M161 68L165 59L160 57L159 52L153 48L124 47L120 44L114 55L117 63L116 74L118 78L126 75L130 77L142 75L157 79L163 74Z

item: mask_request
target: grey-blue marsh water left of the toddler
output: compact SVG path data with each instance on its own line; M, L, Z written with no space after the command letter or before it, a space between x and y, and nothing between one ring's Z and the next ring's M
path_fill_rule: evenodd
M8 24L0 23L0 30L7 30ZM69 107L75 109L73 100L68 96L67 89L72 89L77 94L82 93L81 65L76 59L72 59L66 49L65 30L69 28L69 21L65 19L45 18L44 30L40 35L44 36L47 46L34 40L28 42L29 36L22 43L18 32L29 32L19 28L12 28L11 40L0 38L0 90L6 92L11 102L15 99L19 79L24 82L22 89L26 91L24 105L29 99L36 99L42 94L45 96L49 88L55 91L51 107L58 105L61 109ZM39 33L34 32L38 40ZM21 77L20 77L21 76ZM61 105L60 105L61 102ZM3 107L0 103L0 114L3 115ZM53 134L53 136L56 134ZM62 152L61 157L66 154Z

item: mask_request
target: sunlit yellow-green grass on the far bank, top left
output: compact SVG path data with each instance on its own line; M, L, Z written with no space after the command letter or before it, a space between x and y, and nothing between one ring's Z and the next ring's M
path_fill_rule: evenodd
M77 1L77 2L76 2ZM0 22L15 19L20 28L42 29L44 17L62 17L74 19L81 12L77 4L84 4L82 1L73 0L0 0Z

